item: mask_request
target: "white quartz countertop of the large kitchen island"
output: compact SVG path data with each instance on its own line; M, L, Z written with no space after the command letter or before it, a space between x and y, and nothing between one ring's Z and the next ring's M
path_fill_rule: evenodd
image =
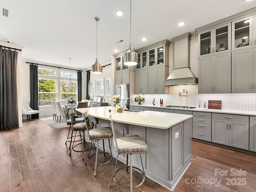
M111 112L109 112L109 109L111 109ZM156 111L123 111L122 113L119 113L115 112L116 108L112 106L77 108L76 110L80 113L85 113L87 111L89 116L105 120L108 120L111 114L112 119L115 122L160 129L168 129L180 122L192 118L192 115Z

